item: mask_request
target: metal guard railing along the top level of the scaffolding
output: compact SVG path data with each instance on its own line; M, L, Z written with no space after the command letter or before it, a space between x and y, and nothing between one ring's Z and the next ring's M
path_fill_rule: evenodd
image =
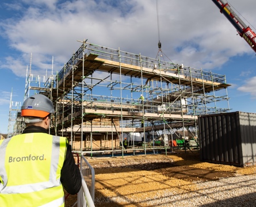
M106 60L112 60L114 62L119 62L121 58L122 63L131 64L133 66L143 66L146 68L155 68L157 66L158 68L161 68L161 70L164 70L165 72L170 73L177 73L179 70L179 73L181 75L192 77L192 78L198 78L205 81L213 81L213 82L219 82L219 83L226 83L226 76L221 74L215 74L211 71L202 71L201 69L196 69L188 66L182 66L181 69L179 69L179 64L174 64L172 62L165 62L163 60L154 59L151 57L146 57L142 55L136 55L133 53L120 51L119 49L112 49L108 47L103 47L100 45L95 45L91 43L84 43L86 44L86 47L79 47L78 51L73 54L73 56L70 58L70 60L65 64L65 66L60 70L58 74L58 80L59 82L62 82L64 76L68 74L72 70L72 66L75 66L79 61L82 59L83 55L83 48L85 48L85 52L89 55L90 53L93 53L95 55L98 55L101 59Z

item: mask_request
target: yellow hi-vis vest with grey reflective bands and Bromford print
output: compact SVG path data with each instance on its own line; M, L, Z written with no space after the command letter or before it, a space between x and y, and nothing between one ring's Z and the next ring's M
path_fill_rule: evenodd
M46 133L0 140L0 206L64 206L66 143Z

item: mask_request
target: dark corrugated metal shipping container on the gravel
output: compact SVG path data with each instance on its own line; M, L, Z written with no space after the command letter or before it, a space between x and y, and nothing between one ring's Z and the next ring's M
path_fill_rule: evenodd
M231 112L198 116L200 156L204 162L256 164L256 114Z

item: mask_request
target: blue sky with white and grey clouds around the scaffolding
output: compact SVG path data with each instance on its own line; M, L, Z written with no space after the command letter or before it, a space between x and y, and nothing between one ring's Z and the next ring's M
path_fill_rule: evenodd
M255 0L230 5L256 32ZM81 43L156 57L155 0L2 0L0 3L0 133L7 133L10 94L23 102L26 68L60 71ZM225 74L231 111L256 113L255 52L211 0L158 0L162 51L177 64ZM247 22L248 21L248 22Z

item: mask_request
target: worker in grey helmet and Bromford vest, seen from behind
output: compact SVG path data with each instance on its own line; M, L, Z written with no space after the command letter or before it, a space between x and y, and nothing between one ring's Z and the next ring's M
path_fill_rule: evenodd
M22 135L0 140L0 206L64 206L82 179L65 137L48 134L54 105L42 94L21 106Z

